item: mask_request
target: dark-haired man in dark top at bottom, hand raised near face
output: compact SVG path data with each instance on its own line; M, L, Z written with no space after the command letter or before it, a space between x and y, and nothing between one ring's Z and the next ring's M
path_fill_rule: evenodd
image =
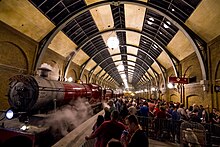
M141 129L138 119L135 115L129 115L126 118L130 137L122 135L121 142L124 147L148 147L147 134Z

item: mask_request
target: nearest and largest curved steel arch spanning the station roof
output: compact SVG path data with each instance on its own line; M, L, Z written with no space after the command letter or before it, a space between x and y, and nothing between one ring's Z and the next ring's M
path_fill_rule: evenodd
M120 1L119 4L133 4L145 7L149 9L150 11L156 12L157 14L165 17L167 20L169 20L172 24L174 24L179 30L181 30L185 36L190 40L191 44L193 45L193 48L197 54L198 60L200 62L200 67L202 70L203 79L206 80L207 78L207 66L205 66L206 62L206 52L205 52L205 45L206 43L195 33L193 33L183 22L181 22L179 19L177 19L174 15L170 14L169 12L164 11L163 9L160 9L160 7L157 7L155 5L148 5L148 3L141 2L141 1ZM65 19L63 19L57 26L48 33L40 42L38 52L37 52L37 59L35 68L37 68L41 64L41 58L42 54L44 54L45 50L48 48L49 43L52 41L52 39L55 37L55 35L61 31L66 25L68 25L69 22L71 22L73 19L75 19L77 16L79 16L82 13L85 13L93 8L103 6L103 5L111 5L112 2L106 2L101 1L97 2L85 7L82 7L80 9L77 9L74 12L71 12ZM157 40L158 42L158 40ZM203 53L203 54L202 54ZM172 58L171 58L172 59ZM173 60L173 59L172 59Z

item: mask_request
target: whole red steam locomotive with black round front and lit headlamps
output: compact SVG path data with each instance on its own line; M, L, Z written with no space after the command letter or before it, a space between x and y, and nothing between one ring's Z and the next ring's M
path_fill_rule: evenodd
M86 99L92 108L97 109L102 106L103 99L122 96L114 94L111 89L102 89L96 84L54 81L42 76L17 75L10 79L9 86L8 102L11 109L15 114L25 116L25 119L19 118L21 122L18 118L13 119L14 121L3 119L0 121L0 146L10 146L12 142L14 142L13 145L18 145L17 142L29 142L29 146L35 146L35 144L47 146L40 145L38 140L44 138L49 128L38 127L39 124L33 126L34 124L31 124L31 118L35 116L33 114L48 112L81 98ZM8 111L6 117L12 118L13 111ZM32 127L22 129L21 124L27 123L27 118L29 126Z

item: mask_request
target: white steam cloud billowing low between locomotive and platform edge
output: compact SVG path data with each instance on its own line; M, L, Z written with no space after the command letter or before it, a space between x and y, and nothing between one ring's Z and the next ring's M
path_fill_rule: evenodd
M71 101L55 113L53 113L46 121L45 125L52 130L54 137L63 137L82 122L92 116L92 108L85 99L77 99ZM59 136L61 135L61 136Z

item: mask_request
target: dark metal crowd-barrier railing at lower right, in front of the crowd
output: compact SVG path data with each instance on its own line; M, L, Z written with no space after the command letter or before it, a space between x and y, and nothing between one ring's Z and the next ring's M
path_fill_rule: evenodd
M181 146L220 145L220 124L174 121L138 116L142 128L151 139L180 143ZM189 137L191 135L191 137Z

